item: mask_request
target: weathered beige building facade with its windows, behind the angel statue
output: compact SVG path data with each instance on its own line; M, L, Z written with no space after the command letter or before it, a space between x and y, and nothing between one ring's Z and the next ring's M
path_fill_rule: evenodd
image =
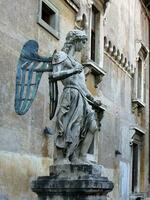
M58 35L43 22L37 23L42 2L50 5L51 28L57 20ZM35 39L41 55L52 55L82 16L89 40L78 59L85 66L89 90L105 107L89 159L103 165L103 175L114 182L108 199L148 198L148 1L1 0L0 11L0 200L36 200L31 181L47 175L53 163L54 136L43 134L45 127L54 130L55 121L49 120L47 74L27 114L18 116L14 110L16 63L22 45Z

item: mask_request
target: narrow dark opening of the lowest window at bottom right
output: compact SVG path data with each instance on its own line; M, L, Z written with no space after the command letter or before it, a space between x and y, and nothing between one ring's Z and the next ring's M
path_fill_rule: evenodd
M132 155L132 192L136 192L138 185L138 145L133 143Z

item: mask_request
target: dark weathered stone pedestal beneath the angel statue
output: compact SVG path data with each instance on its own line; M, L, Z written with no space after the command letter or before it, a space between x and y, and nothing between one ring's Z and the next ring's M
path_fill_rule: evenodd
M53 165L49 176L32 182L38 200L106 200L112 189L98 165Z

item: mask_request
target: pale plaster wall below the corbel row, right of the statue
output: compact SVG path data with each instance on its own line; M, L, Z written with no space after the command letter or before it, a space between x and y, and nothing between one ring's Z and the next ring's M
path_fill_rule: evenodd
M131 111L131 76L106 55L104 70L107 74L99 89L107 108L99 136L99 163L104 166L105 175L115 183L110 199L126 200L129 198L130 127L135 123Z

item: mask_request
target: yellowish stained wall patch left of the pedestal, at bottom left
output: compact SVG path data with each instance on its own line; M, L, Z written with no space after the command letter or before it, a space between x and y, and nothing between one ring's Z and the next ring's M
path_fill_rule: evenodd
M36 199L30 183L39 175L48 175L51 164L48 157L1 151L0 200Z

